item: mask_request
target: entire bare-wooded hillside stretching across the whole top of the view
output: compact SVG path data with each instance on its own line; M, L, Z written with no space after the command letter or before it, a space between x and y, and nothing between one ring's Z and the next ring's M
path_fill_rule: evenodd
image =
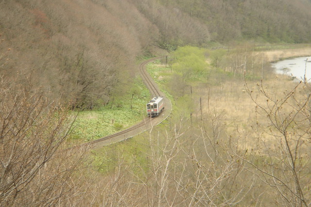
M152 48L311 42L310 19L305 0L2 0L0 71L90 107Z

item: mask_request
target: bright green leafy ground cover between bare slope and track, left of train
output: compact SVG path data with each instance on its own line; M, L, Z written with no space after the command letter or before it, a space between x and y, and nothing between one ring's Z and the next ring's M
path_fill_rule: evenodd
M150 99L150 93L140 77L135 79L132 90L135 93L118 98L112 107L108 103L98 109L79 111L70 140L96 140L141 121L145 116L145 104Z

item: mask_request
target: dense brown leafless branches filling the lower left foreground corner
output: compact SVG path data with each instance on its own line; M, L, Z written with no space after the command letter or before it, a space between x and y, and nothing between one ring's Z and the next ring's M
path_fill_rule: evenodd
M68 108L14 83L0 77L0 205L66 203L78 192L71 180L84 152L64 149Z

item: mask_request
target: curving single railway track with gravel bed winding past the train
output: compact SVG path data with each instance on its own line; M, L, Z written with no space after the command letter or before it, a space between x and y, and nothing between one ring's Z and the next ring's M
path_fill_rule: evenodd
M122 131L116 132L114 134L99 138L97 140L85 143L83 145L88 145L91 148L98 148L101 146L109 145L112 143L121 142L124 140L127 140L128 138L134 137L141 132L144 132L146 130L151 129L155 125L160 124L162 121L164 121L166 118L169 117L169 115L172 112L172 103L170 99L168 99L164 93L162 93L155 81L150 77L150 75L146 71L146 65L149 64L152 61L155 61L157 59L160 59L161 57L155 57L152 59L149 59L147 61L144 61L143 63L139 64L139 72L141 75L142 80L144 81L146 87L151 93L152 97L155 96L162 96L164 98L164 104L165 104L165 110L162 111L162 113L159 116L156 117L148 117L145 116L144 119L139 122L136 125L133 125L131 127L128 127Z

